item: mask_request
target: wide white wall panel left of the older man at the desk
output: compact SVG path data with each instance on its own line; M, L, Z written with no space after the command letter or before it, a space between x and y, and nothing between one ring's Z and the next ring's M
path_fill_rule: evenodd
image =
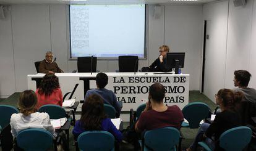
M49 6L12 7L16 91L27 89L27 75L36 73L34 62L51 50Z

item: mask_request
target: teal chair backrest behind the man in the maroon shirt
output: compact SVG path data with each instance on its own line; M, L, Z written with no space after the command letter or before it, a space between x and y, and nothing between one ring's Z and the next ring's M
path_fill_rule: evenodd
M179 131L176 128L166 127L146 131L144 135L144 150L176 150L179 143Z

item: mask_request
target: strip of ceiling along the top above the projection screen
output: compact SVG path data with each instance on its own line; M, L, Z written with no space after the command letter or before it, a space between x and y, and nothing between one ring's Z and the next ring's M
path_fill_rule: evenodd
M0 0L0 4L205 4L218 0Z

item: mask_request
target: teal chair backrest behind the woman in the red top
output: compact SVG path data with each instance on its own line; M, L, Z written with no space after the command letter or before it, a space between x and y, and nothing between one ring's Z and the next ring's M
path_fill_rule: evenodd
M65 110L59 105L53 105L53 104L43 105L38 109L38 112L48 113L50 119L59 119L59 118L66 117Z

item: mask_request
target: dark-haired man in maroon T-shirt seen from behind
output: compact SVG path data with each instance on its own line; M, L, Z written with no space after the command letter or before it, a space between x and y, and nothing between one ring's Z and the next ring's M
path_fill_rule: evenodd
M164 127L181 128L184 120L181 109L177 105L168 107L163 103L164 91L164 86L160 83L150 86L146 108L135 124L137 133Z

